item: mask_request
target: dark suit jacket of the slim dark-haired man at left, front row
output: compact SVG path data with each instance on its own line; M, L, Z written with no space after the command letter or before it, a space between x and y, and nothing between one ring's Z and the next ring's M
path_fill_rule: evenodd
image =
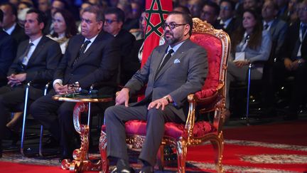
M62 57L62 52L60 46L56 41L51 40L43 36L41 41L36 46L36 49L32 53L31 58L28 61L28 65L25 68L21 67L21 56L26 51L29 41L23 41L18 46L17 56L9 68L8 75L26 73L26 81L23 84L28 83L29 81L34 82L35 88L43 88L45 84L53 79L53 73L55 68L58 66L60 58ZM30 90L31 98L35 99L41 95L36 94L34 88ZM41 91L39 91L41 93Z

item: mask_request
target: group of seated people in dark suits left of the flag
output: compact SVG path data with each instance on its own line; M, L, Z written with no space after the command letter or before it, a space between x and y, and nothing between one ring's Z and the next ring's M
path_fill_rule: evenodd
M118 8L109 8L103 13L97 6L88 7L82 14L82 33L75 36L72 36L73 30L69 30L75 25L67 20L70 16L65 11L55 12L55 31L65 38L58 40L63 42L60 46L57 41L43 35L43 14L36 9L27 12L25 33L30 39L19 44L16 58L7 73L8 85L0 88L0 139L12 134L11 129L6 127L7 119L10 112L22 111L16 105L23 103L26 83L33 81L29 91L29 102L32 103L29 112L51 132L55 140L61 142L63 158L72 157L74 148L70 142L75 131L71 121L74 104L57 102L52 96L73 92L68 89L69 84L88 90L95 82L117 83L119 64L124 64L124 57L129 55L135 41L131 33L122 29L124 12ZM113 26L114 21L120 22ZM64 23L68 23L65 29L61 28ZM1 30L1 33L4 31ZM12 40L6 33L4 36ZM2 45L5 44L9 41ZM139 62L139 59L136 61ZM41 89L48 81L53 81L53 90L41 97ZM99 93L114 95L114 88L105 87ZM94 105L92 110L102 111L99 106Z

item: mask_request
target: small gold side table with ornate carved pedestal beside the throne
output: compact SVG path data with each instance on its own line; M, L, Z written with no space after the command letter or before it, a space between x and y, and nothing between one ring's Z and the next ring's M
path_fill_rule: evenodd
M73 110L73 123L75 130L80 134L81 146L80 148L72 152L73 160L63 159L61 162L62 169L69 169L70 172L82 172L82 171L97 171L102 169L101 160L92 162L88 157L89 149L89 125L80 124L80 116L82 112L88 110L87 103L103 103L113 100L110 95L53 95L53 100L74 102L76 103Z

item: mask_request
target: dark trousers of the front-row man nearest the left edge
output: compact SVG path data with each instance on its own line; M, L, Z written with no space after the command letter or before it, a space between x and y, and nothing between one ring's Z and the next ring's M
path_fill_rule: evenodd
M6 129L6 123L11 112L23 110L21 105L24 102L24 92L23 86L15 88L3 86L0 88L0 140L4 139L5 135L9 133Z

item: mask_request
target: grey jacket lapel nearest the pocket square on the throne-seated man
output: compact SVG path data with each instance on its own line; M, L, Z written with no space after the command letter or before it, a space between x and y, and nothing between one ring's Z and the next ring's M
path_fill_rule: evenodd
M185 43L183 43L180 48L178 48L178 50L176 51L176 53L173 54L173 56L171 56L171 58L168 60L168 62L163 66L163 68L160 70L160 72L158 73L158 75L156 76L156 79L158 79L158 77L160 75L162 75L169 67L171 67L171 65L173 65L174 60L178 59L181 60L181 58L183 57L183 53L185 53L185 51L188 50L188 46L190 45L190 40L185 41ZM164 56L164 54L163 54ZM162 58L163 58L162 56ZM160 61L161 62L161 61ZM160 63L158 64L160 65ZM157 70L156 70L157 72ZM156 80L155 79L155 80Z

